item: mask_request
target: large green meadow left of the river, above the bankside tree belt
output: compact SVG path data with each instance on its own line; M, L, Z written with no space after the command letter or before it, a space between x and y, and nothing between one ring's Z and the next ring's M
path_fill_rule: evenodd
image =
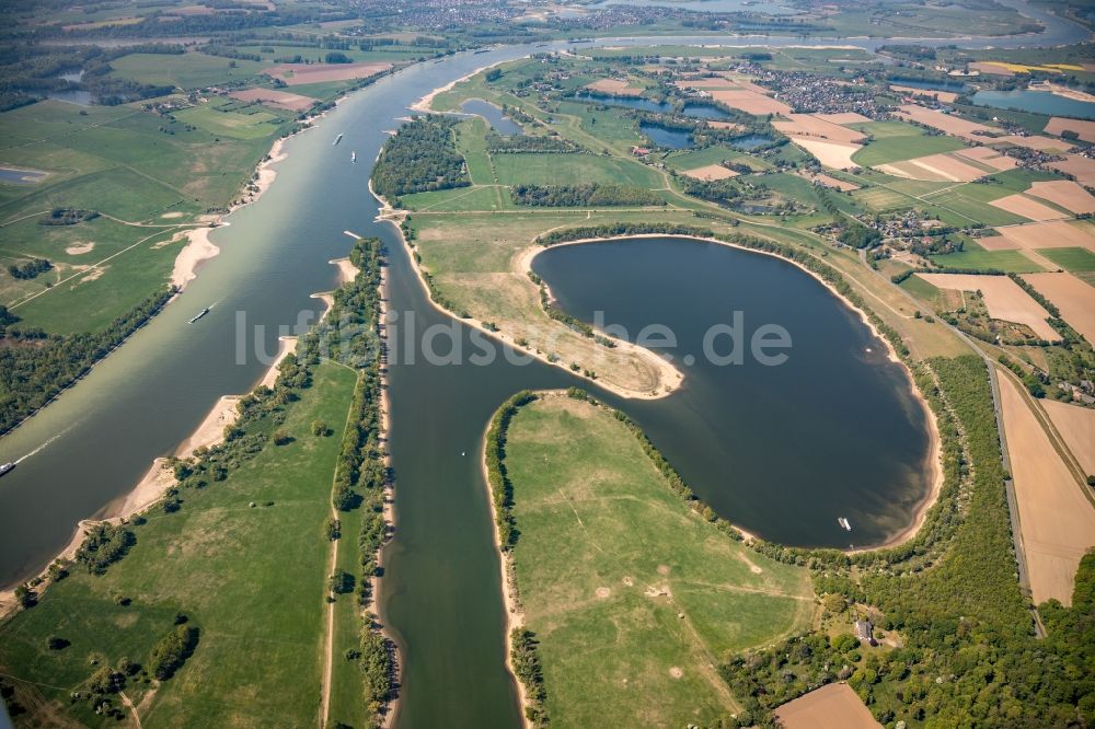
M180 245L157 244L231 202L287 118L240 106L215 99L177 120L137 104L49 101L0 114L0 160L48 173L33 185L0 183L0 264L55 266L33 280L0 271L0 304L49 332L94 331L162 286ZM101 217L39 224L54 208Z

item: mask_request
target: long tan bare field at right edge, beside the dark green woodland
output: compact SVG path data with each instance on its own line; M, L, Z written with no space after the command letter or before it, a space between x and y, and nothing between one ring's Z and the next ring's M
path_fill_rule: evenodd
M1006 375L1000 400L1034 601L1071 604L1080 559L1095 545L1095 508Z

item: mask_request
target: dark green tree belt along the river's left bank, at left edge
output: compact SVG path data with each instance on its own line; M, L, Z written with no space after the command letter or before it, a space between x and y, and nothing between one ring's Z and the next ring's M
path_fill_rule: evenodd
M83 377L92 364L154 316L174 293L172 288L152 294L95 334L46 335L41 329L5 325L0 319L0 342L8 345L0 347L0 435Z

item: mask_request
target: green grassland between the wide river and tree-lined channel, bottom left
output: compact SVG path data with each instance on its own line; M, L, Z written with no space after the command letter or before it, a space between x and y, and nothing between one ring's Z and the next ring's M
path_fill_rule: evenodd
M175 513L153 509L135 528L136 545L105 575L77 566L38 605L0 626L0 667L18 681L20 703L31 703L28 692L47 706L68 705L69 693L96 670L92 658L97 666L123 657L147 663L183 613L200 630L194 655L154 691L136 681L126 687L146 726L314 725L326 620L324 524L354 381L350 370L321 364L279 426L293 442L267 441L226 481L181 494ZM316 419L333 433L313 436ZM49 650L49 636L71 645ZM335 656L342 660L356 643L356 632L344 636ZM87 701L67 710L90 726L106 722Z

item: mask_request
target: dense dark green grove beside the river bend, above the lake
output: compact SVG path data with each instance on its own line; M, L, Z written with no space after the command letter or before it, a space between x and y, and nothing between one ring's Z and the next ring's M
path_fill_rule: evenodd
M464 158L457 151L453 139L452 128L458 123L450 117L427 115L403 124L384 142L372 167L373 189L392 199L470 185Z

